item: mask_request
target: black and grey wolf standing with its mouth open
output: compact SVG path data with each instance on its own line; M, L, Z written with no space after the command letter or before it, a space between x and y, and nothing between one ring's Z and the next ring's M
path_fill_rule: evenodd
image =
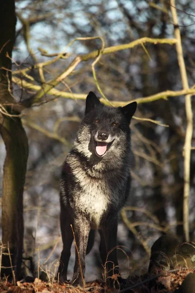
M85 256L93 246L95 230L100 234L99 251L108 276L120 276L117 223L131 186L129 125L136 108L136 102L117 108L103 105L93 92L86 98L85 116L60 179L60 282L67 281L75 234L78 251L72 284L84 285Z

